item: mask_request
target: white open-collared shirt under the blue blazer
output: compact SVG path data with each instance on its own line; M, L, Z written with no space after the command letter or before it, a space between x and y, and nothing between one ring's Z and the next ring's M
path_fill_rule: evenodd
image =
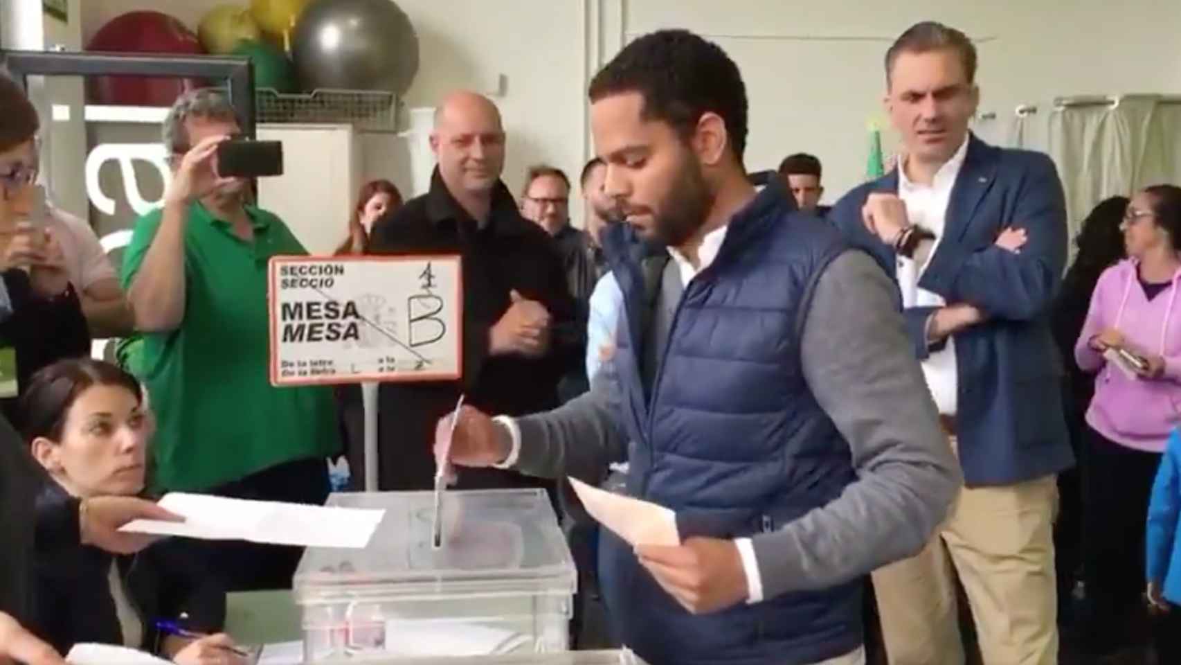
M899 157L898 196L906 203L906 216L912 224L921 226L935 234L935 243L931 248L931 254L927 255L928 262L939 249L939 243L944 237L947 204L952 197L952 188L955 187L955 178L964 165L965 155L967 155L966 138L955 155L935 171L935 177L929 185L911 182L906 177L906 169L902 168L901 157ZM898 257L898 286L902 292L903 307L942 307L947 305L938 293L919 288L919 279L926 269L927 263L919 266L912 259ZM931 390L931 396L934 398L939 412L954 416L958 400L958 378L955 373L955 344L951 337L947 338L947 344L941 350L922 361L922 374L927 379L927 387Z

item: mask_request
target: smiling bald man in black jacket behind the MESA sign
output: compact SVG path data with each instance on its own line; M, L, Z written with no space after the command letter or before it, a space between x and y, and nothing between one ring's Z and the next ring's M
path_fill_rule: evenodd
M463 378L385 384L379 392L379 484L433 484L435 422L459 395L468 404L521 415L557 404L559 379L581 365L574 305L550 237L524 220L500 176L504 130L487 98L450 94L435 118L438 167L430 191L380 220L372 254L463 256ZM464 470L461 488L539 487L500 469Z

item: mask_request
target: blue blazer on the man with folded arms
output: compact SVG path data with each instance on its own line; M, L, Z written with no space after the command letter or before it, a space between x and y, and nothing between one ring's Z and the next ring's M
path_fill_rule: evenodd
M952 188L944 236L919 286L968 302L987 320L955 334L957 445L970 487L1027 481L1074 464L1062 406L1062 359L1049 312L1066 260L1066 207L1053 162L968 138ZM828 219L896 279L892 248L866 229L861 208L874 191L898 193L898 174L855 188ZM1019 254L996 247L1006 227L1025 229ZM935 307L903 311L914 353L928 346Z

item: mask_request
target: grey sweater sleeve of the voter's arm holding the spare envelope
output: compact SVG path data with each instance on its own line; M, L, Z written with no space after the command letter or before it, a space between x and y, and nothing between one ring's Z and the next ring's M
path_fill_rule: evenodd
M821 274L804 322L804 378L849 443L840 497L752 539L763 598L852 580L918 553L961 477L907 339L896 289L861 252Z

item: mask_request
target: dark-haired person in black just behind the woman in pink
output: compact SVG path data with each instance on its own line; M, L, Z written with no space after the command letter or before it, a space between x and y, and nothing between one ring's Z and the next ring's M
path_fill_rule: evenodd
M1055 567L1058 579L1059 620L1072 617L1070 599L1077 581L1077 569L1082 563L1082 513L1088 467L1085 423L1083 416L1095 395L1095 374L1078 369L1075 360L1075 341L1083 330L1091 293L1100 275L1109 266L1123 257L1123 232L1120 224L1128 209L1127 196L1113 196L1102 201L1083 221L1075 239L1078 253L1075 262L1062 279L1062 287L1053 300L1050 327L1053 341L1062 354L1065 369L1063 383L1063 406L1066 411L1066 429L1070 445L1075 449L1077 465L1058 475L1058 493L1062 503L1053 527Z

